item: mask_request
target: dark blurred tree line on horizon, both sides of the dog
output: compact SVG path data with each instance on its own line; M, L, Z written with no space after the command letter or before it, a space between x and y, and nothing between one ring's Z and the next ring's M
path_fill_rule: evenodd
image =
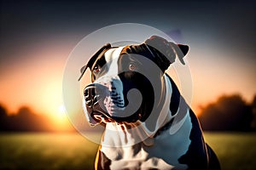
M240 94L223 95L216 102L201 107L198 118L205 131L255 131L256 95L249 104ZM49 118L33 113L27 106L20 107L16 114L10 115L3 105L0 105L2 132L52 132L55 131L52 125Z

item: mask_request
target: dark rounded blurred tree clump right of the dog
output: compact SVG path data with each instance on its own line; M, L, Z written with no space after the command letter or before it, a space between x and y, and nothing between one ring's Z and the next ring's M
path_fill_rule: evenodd
M239 94L221 96L203 108L199 119L203 130L248 131L253 114Z

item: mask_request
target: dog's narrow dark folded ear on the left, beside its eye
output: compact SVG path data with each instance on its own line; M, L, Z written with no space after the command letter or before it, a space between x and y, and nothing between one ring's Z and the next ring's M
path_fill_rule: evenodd
M81 76L79 77L79 81L81 80L81 78L84 76L84 72L86 71L86 69L89 67L91 70L92 65L94 64L94 62L96 61L96 59L98 59L99 57L101 57L103 54L105 54L105 52L111 48L111 44L107 43L106 45L104 45L102 48L100 48L96 54L94 54L90 60L88 61L88 63L86 65L84 65L80 71L81 71Z

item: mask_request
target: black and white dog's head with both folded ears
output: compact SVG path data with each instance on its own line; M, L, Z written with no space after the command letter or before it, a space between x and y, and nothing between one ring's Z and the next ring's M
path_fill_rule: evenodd
M91 82L84 88L84 112L90 125L108 122L144 122L162 97L162 76L189 47L150 37L139 45L111 47L108 43L87 65ZM81 78L79 77L79 79Z

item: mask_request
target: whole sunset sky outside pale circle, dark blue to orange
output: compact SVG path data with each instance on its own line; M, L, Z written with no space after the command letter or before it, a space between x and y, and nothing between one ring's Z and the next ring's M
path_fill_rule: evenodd
M27 105L67 122L61 86L68 55L90 32L127 22L189 45L195 111L222 94L249 102L256 94L255 8L253 1L1 0L0 104L11 113Z

